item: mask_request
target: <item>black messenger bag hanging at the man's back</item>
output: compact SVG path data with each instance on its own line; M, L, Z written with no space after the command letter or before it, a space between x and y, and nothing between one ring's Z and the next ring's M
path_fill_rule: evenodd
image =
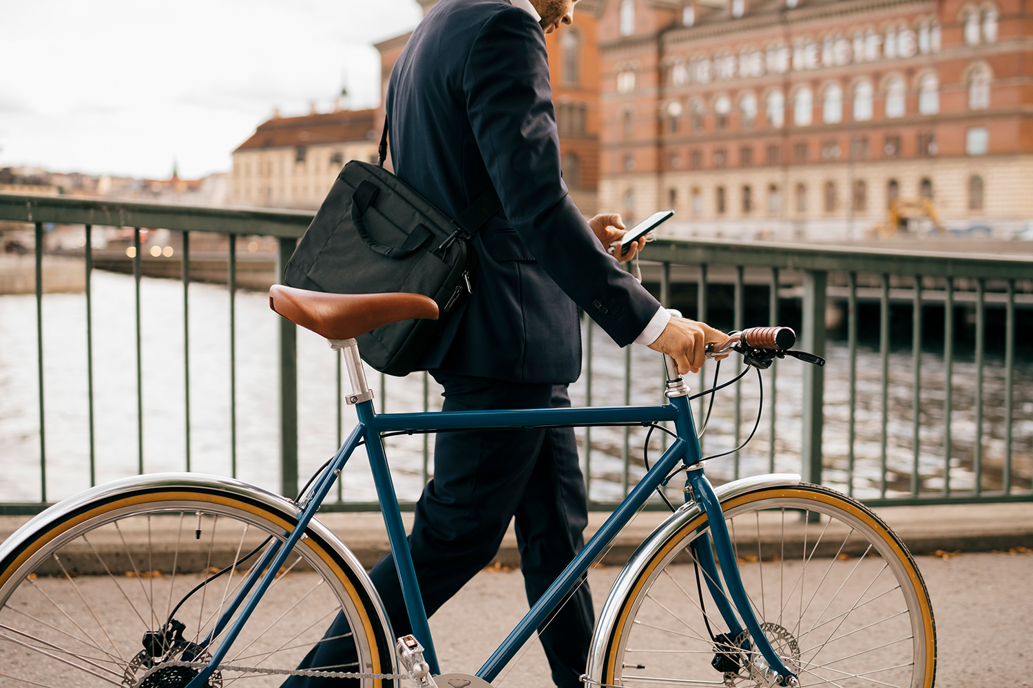
M384 159L387 127L380 141ZM344 166L283 270L290 287L336 294L411 292L438 320L404 320L357 337L363 359L392 375L412 371L472 289L470 237L501 207L491 185L451 220L380 165Z

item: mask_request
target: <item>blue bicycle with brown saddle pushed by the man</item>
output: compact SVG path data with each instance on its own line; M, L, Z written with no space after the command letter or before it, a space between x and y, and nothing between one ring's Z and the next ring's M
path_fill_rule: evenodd
M693 397L669 358L664 405L377 414L354 337L437 317L434 302L277 286L271 303L343 352L358 425L296 500L224 478L164 473L94 488L32 519L0 547L4 686L277 686L303 674L378 688L404 680L482 688L669 484L684 485L684 502L670 504L618 576L598 615L586 686L933 686L933 612L903 543L862 504L799 476L715 489ZM776 357L823 364L792 351L794 341L788 328L753 328L709 355L743 355L758 382ZM382 438L626 424L669 432L670 445L476 675L442 673ZM402 638L358 560L314 518L359 446L412 621ZM313 645L341 640L323 637L338 613L357 659L298 669Z

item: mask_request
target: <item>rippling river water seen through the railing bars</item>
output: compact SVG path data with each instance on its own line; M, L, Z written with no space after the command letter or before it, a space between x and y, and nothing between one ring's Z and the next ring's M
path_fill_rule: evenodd
M145 277L140 283L143 342L144 459L147 472L184 470L186 466L183 286L180 282ZM95 404L96 481L103 483L138 470L136 359L132 277L97 271L93 282L93 366ZM87 404L86 301L82 294L48 294L43 298L43 368L46 441L46 499L74 494L90 484L89 416ZM190 458L191 469L228 476L230 462L229 304L224 286L190 286ZM594 405L620 405L624 400L625 352L593 325ZM583 337L584 338L584 337ZM337 448L336 363L325 341L299 329L300 474L307 477ZM632 347L631 403L661 400L659 354ZM845 342L832 341L825 367L824 482L845 489L847 419L849 414L848 352ZM786 359L777 365L775 468L800 470L801 373L805 364ZM910 351L889 357L889 422L887 424L887 487L889 494L907 491L912 450L912 359ZM919 474L921 489L943 487L942 356L922 356L922 403ZM721 379L730 379L734 363L722 366ZM277 318L263 293L237 296L237 476L262 487L279 488L279 431L277 379ZM983 483L1000 489L1004 461L1003 362L988 357L984 368ZM713 374L713 367L710 368ZM858 348L854 494L878 495L880 481L880 363L877 352ZM690 375L693 390L702 389ZM772 371L762 373L764 416L756 436L740 452L740 474L769 469L769 417ZM347 385L347 381L344 383ZM424 375L407 379L371 374L378 409L421 411ZM440 408L440 388L429 380L429 406ZM383 387L381 386L383 385ZM962 357L953 366L951 490L971 490L975 436L975 366ZM381 390L384 393L381 393ZM585 375L571 386L575 405L585 403ZM1015 371L1013 416L1013 486L1030 486L1033 465L1033 366ZM741 383L741 434L753 427L758 402L756 374ZM698 402L693 408L698 408ZM734 447L734 392L719 393L703 438L707 453ZM355 422L345 406L342 427L347 434ZM622 450L624 428L594 428L591 433L591 496L600 501L621 498L624 490ZM645 472L643 428L629 430L633 485ZM659 456L661 438L654 433L651 459ZM586 462L585 431L578 430L582 462ZM387 440L395 485L403 500L415 499L422 485L424 438ZM433 438L431 440L433 453ZM0 296L0 501L40 499L39 416L36 367L35 298ZM715 482L734 476L731 457L708 467ZM375 500L365 455L357 452L344 471L343 498ZM671 489L671 495L678 494Z

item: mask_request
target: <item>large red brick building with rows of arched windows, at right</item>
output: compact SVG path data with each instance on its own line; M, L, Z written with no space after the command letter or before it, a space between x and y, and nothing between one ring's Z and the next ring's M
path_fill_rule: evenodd
M894 198L1033 218L1023 0L600 4L602 207L743 238L860 238Z

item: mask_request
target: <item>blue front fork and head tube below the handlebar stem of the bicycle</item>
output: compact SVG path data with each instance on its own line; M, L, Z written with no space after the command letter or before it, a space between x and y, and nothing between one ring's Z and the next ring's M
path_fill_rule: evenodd
M706 510L707 521L710 524L711 538L714 540L714 549L717 551L718 561L714 561L714 554L711 552L710 545L706 539L703 539L703 543L699 547L693 546L692 554L696 558L699 567L703 570L711 597L713 597L721 614L721 618L728 627L726 637L730 636L734 640L742 634L743 626L740 625L739 621L742 619L743 625L750 631L750 638L753 645L756 646L756 651L760 653L760 656L763 657L763 662L766 663L766 666L764 666L758 662L760 665L757 666L763 673L766 685L795 688L800 685L799 678L786 667L785 663L778 656L778 653L772 648L771 642L760 628L760 622L757 620L757 616L750 603L750 598L746 594L746 588L743 586L743 579L739 572L739 562L735 561L731 538L728 536L728 527L724 522L724 514L721 511L721 502L714 493L714 487L707 480L707 476L703 474L702 453L699 449L695 422L692 419L692 408L688 400L689 388L683 382L681 374L679 374L675 361L665 355L664 362L666 363L667 370L666 394L670 402L679 411L679 420L676 421L678 435L686 439L685 455L682 457L687 473L685 479L686 500L691 496ZM718 563L724 578L723 584L721 577L718 576ZM725 586L728 588L727 593L724 590ZM731 603L729 603L729 598ZM700 600L701 604L702 600ZM738 618L735 617L737 612L739 613ZM744 644L743 649L747 652L750 651L748 644Z

